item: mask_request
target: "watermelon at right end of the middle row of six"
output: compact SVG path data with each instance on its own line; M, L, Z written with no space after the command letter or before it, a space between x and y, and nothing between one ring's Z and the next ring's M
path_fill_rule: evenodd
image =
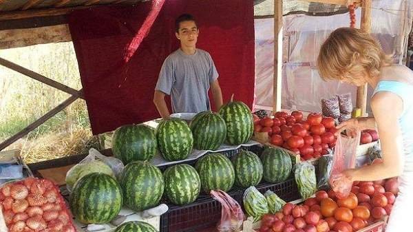
M290 155L275 147L266 147L261 155L263 177L266 182L279 183L290 176L292 164Z

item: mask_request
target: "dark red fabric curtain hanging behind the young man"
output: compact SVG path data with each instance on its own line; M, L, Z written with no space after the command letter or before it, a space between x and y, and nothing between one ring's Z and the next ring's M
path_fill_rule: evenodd
M70 14L69 27L93 134L160 117L153 90L163 61L179 48L174 21L185 12L198 21L197 48L215 62L224 102L235 94L252 107L253 1L158 0L80 10Z

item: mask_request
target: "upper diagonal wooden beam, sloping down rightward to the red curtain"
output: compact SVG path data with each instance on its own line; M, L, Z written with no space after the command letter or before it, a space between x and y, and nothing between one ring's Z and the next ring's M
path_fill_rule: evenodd
M15 63L12 63L12 62L10 62L10 61L8 61L8 60L6 60L6 59L0 58L0 65L3 65L3 66L5 66L5 67L10 68L11 70L14 70L14 71L16 71L16 72L20 72L21 74L24 74L24 75L26 75L26 76L29 76L29 77L31 77L31 78L34 78L36 81L40 81L41 83L45 83L46 85L50 85L50 86L52 86L52 87L54 87L54 88L56 88L56 89L59 89L59 90L61 90L61 91L63 91L63 92L66 92L67 94L72 94L72 95L74 95L74 96L76 96L76 97L79 97L79 98L83 98L83 99L84 99L83 92L79 92L78 90L72 89L71 87L68 87L68 86L66 86L66 85L63 85L63 84L61 84L61 83L59 83L59 82L57 82L57 81L53 81L53 80L50 79L50 78L47 78L47 77L45 77L45 76L43 76L43 75L41 75L41 74L38 74L38 73L36 73L36 72L33 72L32 70L28 70L28 69L25 68L25 67L21 67L20 65L17 65L17 64L15 64Z

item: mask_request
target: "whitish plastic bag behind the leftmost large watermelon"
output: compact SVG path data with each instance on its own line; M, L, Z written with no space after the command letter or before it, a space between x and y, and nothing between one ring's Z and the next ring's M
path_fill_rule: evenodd
M103 156L98 150L89 149L89 155L67 171L66 188L68 191L72 191L78 179L93 172L102 172L114 178L119 178L123 167L123 162L118 158Z

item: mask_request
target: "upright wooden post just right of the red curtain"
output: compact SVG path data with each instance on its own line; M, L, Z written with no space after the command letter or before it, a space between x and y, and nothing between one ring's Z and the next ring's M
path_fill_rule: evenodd
M281 110L282 89L282 0L274 2L273 112Z

